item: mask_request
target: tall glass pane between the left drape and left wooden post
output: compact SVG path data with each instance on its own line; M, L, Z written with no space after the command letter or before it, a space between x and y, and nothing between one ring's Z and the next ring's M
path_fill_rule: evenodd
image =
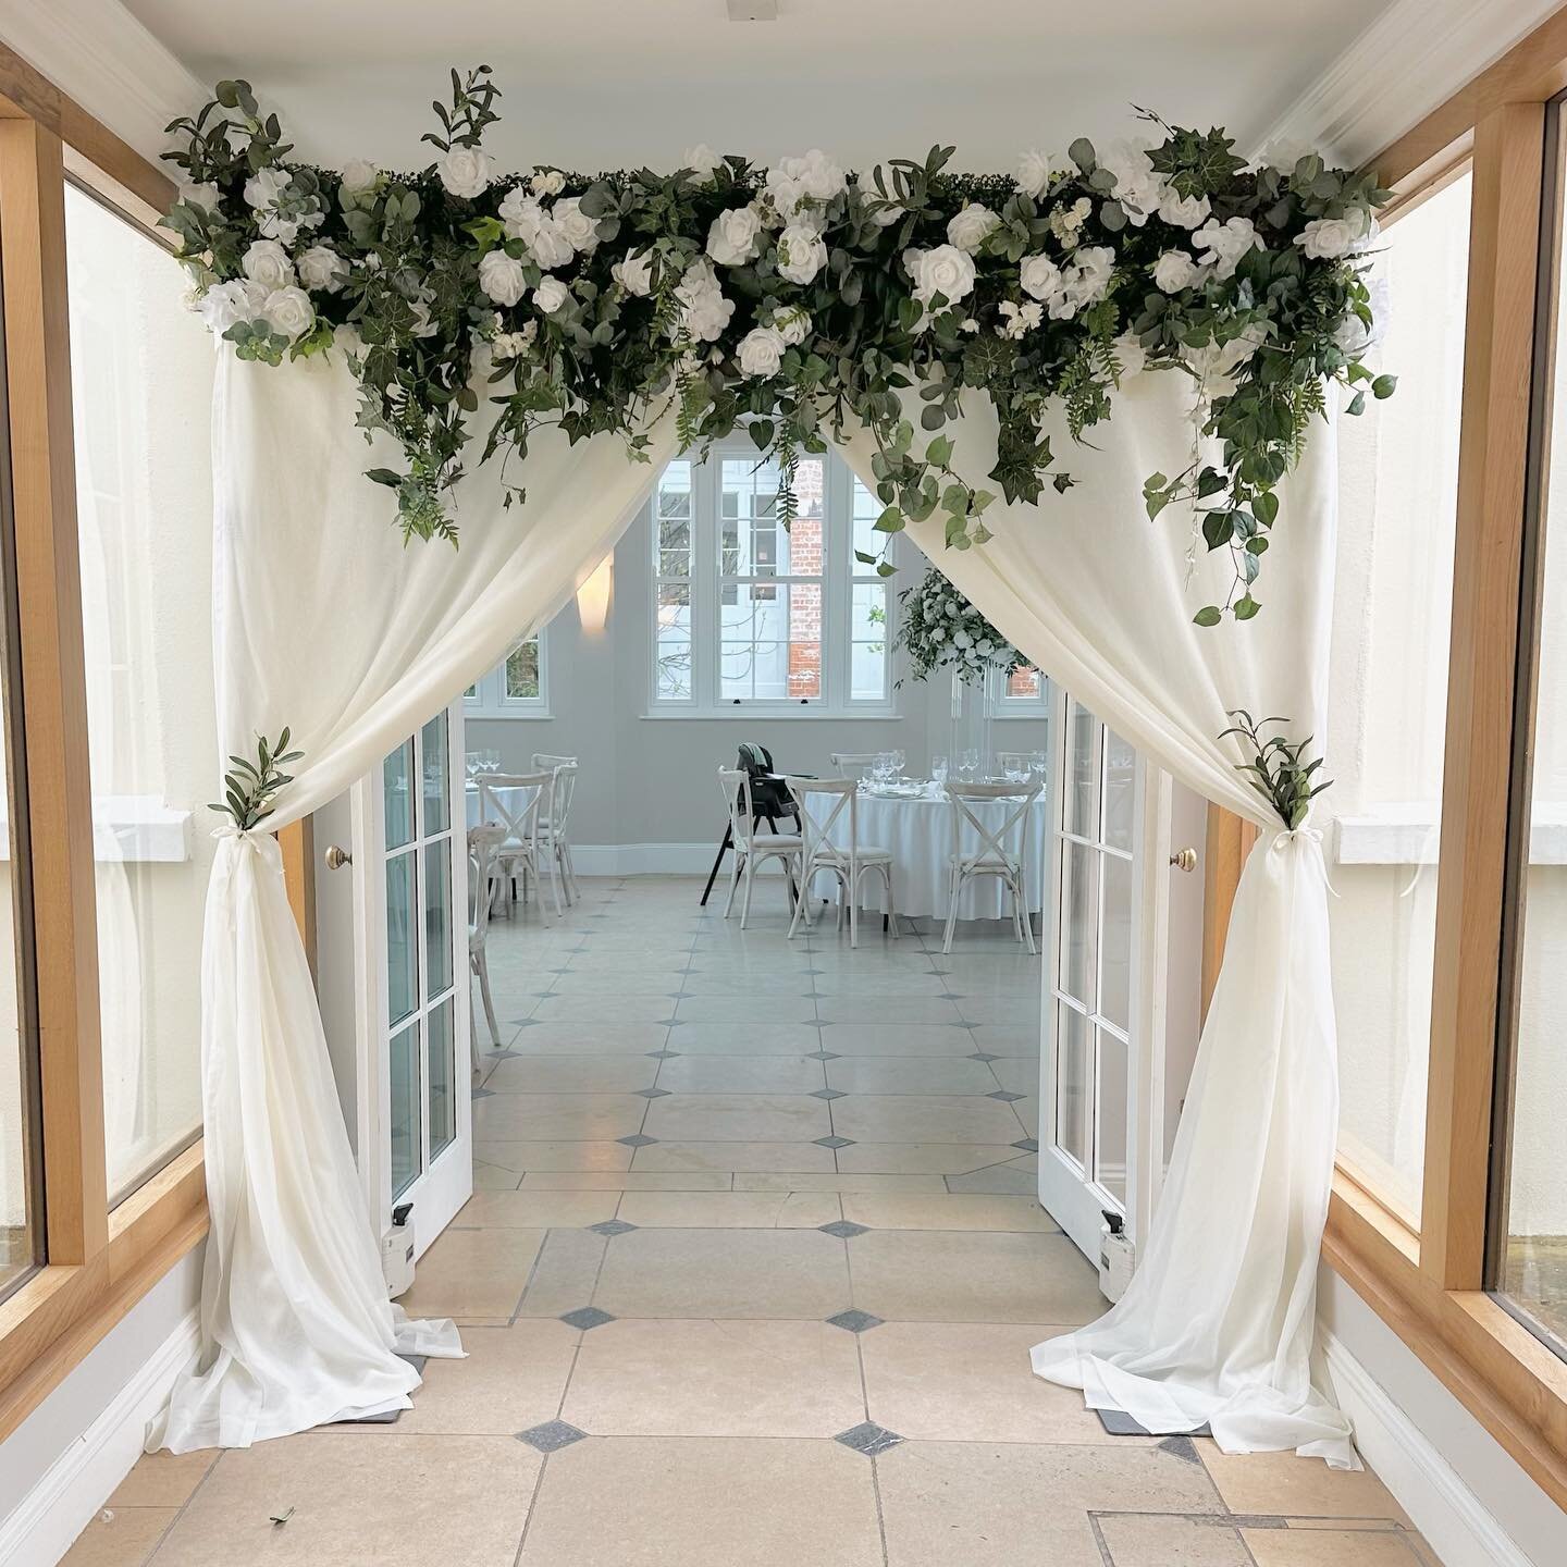
M118 1202L201 1127L191 954L218 755L202 434L213 353L161 246L71 186L64 205L103 1130Z

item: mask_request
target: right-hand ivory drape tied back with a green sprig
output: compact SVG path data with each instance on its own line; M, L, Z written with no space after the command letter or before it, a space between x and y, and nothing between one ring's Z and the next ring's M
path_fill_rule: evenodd
M1171 1169L1131 1287L1097 1323L1034 1349L1034 1370L1153 1432L1208 1424L1230 1453L1296 1448L1359 1467L1348 1420L1312 1382L1316 1266L1334 1169L1338 1064L1327 881L1312 831L1280 832L1219 740L1233 708L1324 735L1335 469L1318 428L1280 487L1257 586L1261 614L1202 628L1224 603L1227 552L1210 555L1189 509L1150 522L1144 480L1182 473L1194 385L1128 376L1111 420L1072 442L1045 429L1075 487L984 514L995 537L921 550L1034 664L1189 787L1265 829L1241 874L1224 967L1202 1031ZM918 426L918 401L907 398ZM997 422L975 395L954 436L970 483L995 465ZM851 467L874 486L868 432Z

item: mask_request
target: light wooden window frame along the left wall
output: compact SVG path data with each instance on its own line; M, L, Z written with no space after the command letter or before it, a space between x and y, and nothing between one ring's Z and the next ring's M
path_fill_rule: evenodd
M103 1147L92 790L77 555L66 182L158 243L172 182L0 45L5 404L22 705L13 843L31 851L45 1263L0 1301L0 1440L207 1233L202 1141L113 1210ZM313 962L309 821L279 834ZM20 979L20 975L19 975Z

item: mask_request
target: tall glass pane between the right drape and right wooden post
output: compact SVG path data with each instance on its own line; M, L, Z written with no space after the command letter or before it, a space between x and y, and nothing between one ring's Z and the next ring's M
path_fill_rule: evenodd
M1398 396L1343 418L1327 774L1321 826L1340 1033L1340 1156L1420 1222L1446 743L1470 179L1388 224L1377 351Z

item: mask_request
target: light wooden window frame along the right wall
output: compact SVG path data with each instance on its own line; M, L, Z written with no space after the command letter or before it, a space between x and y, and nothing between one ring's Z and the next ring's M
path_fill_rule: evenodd
M1545 105L1567 89L1567 9L1371 160L1407 210L1471 169L1468 304L1418 1233L1343 1161L1323 1257L1567 1507L1567 1363L1486 1291L1492 1105L1515 766L1523 541L1540 313ZM1210 810L1210 845L1239 820ZM1210 854L1203 993L1239 857Z

